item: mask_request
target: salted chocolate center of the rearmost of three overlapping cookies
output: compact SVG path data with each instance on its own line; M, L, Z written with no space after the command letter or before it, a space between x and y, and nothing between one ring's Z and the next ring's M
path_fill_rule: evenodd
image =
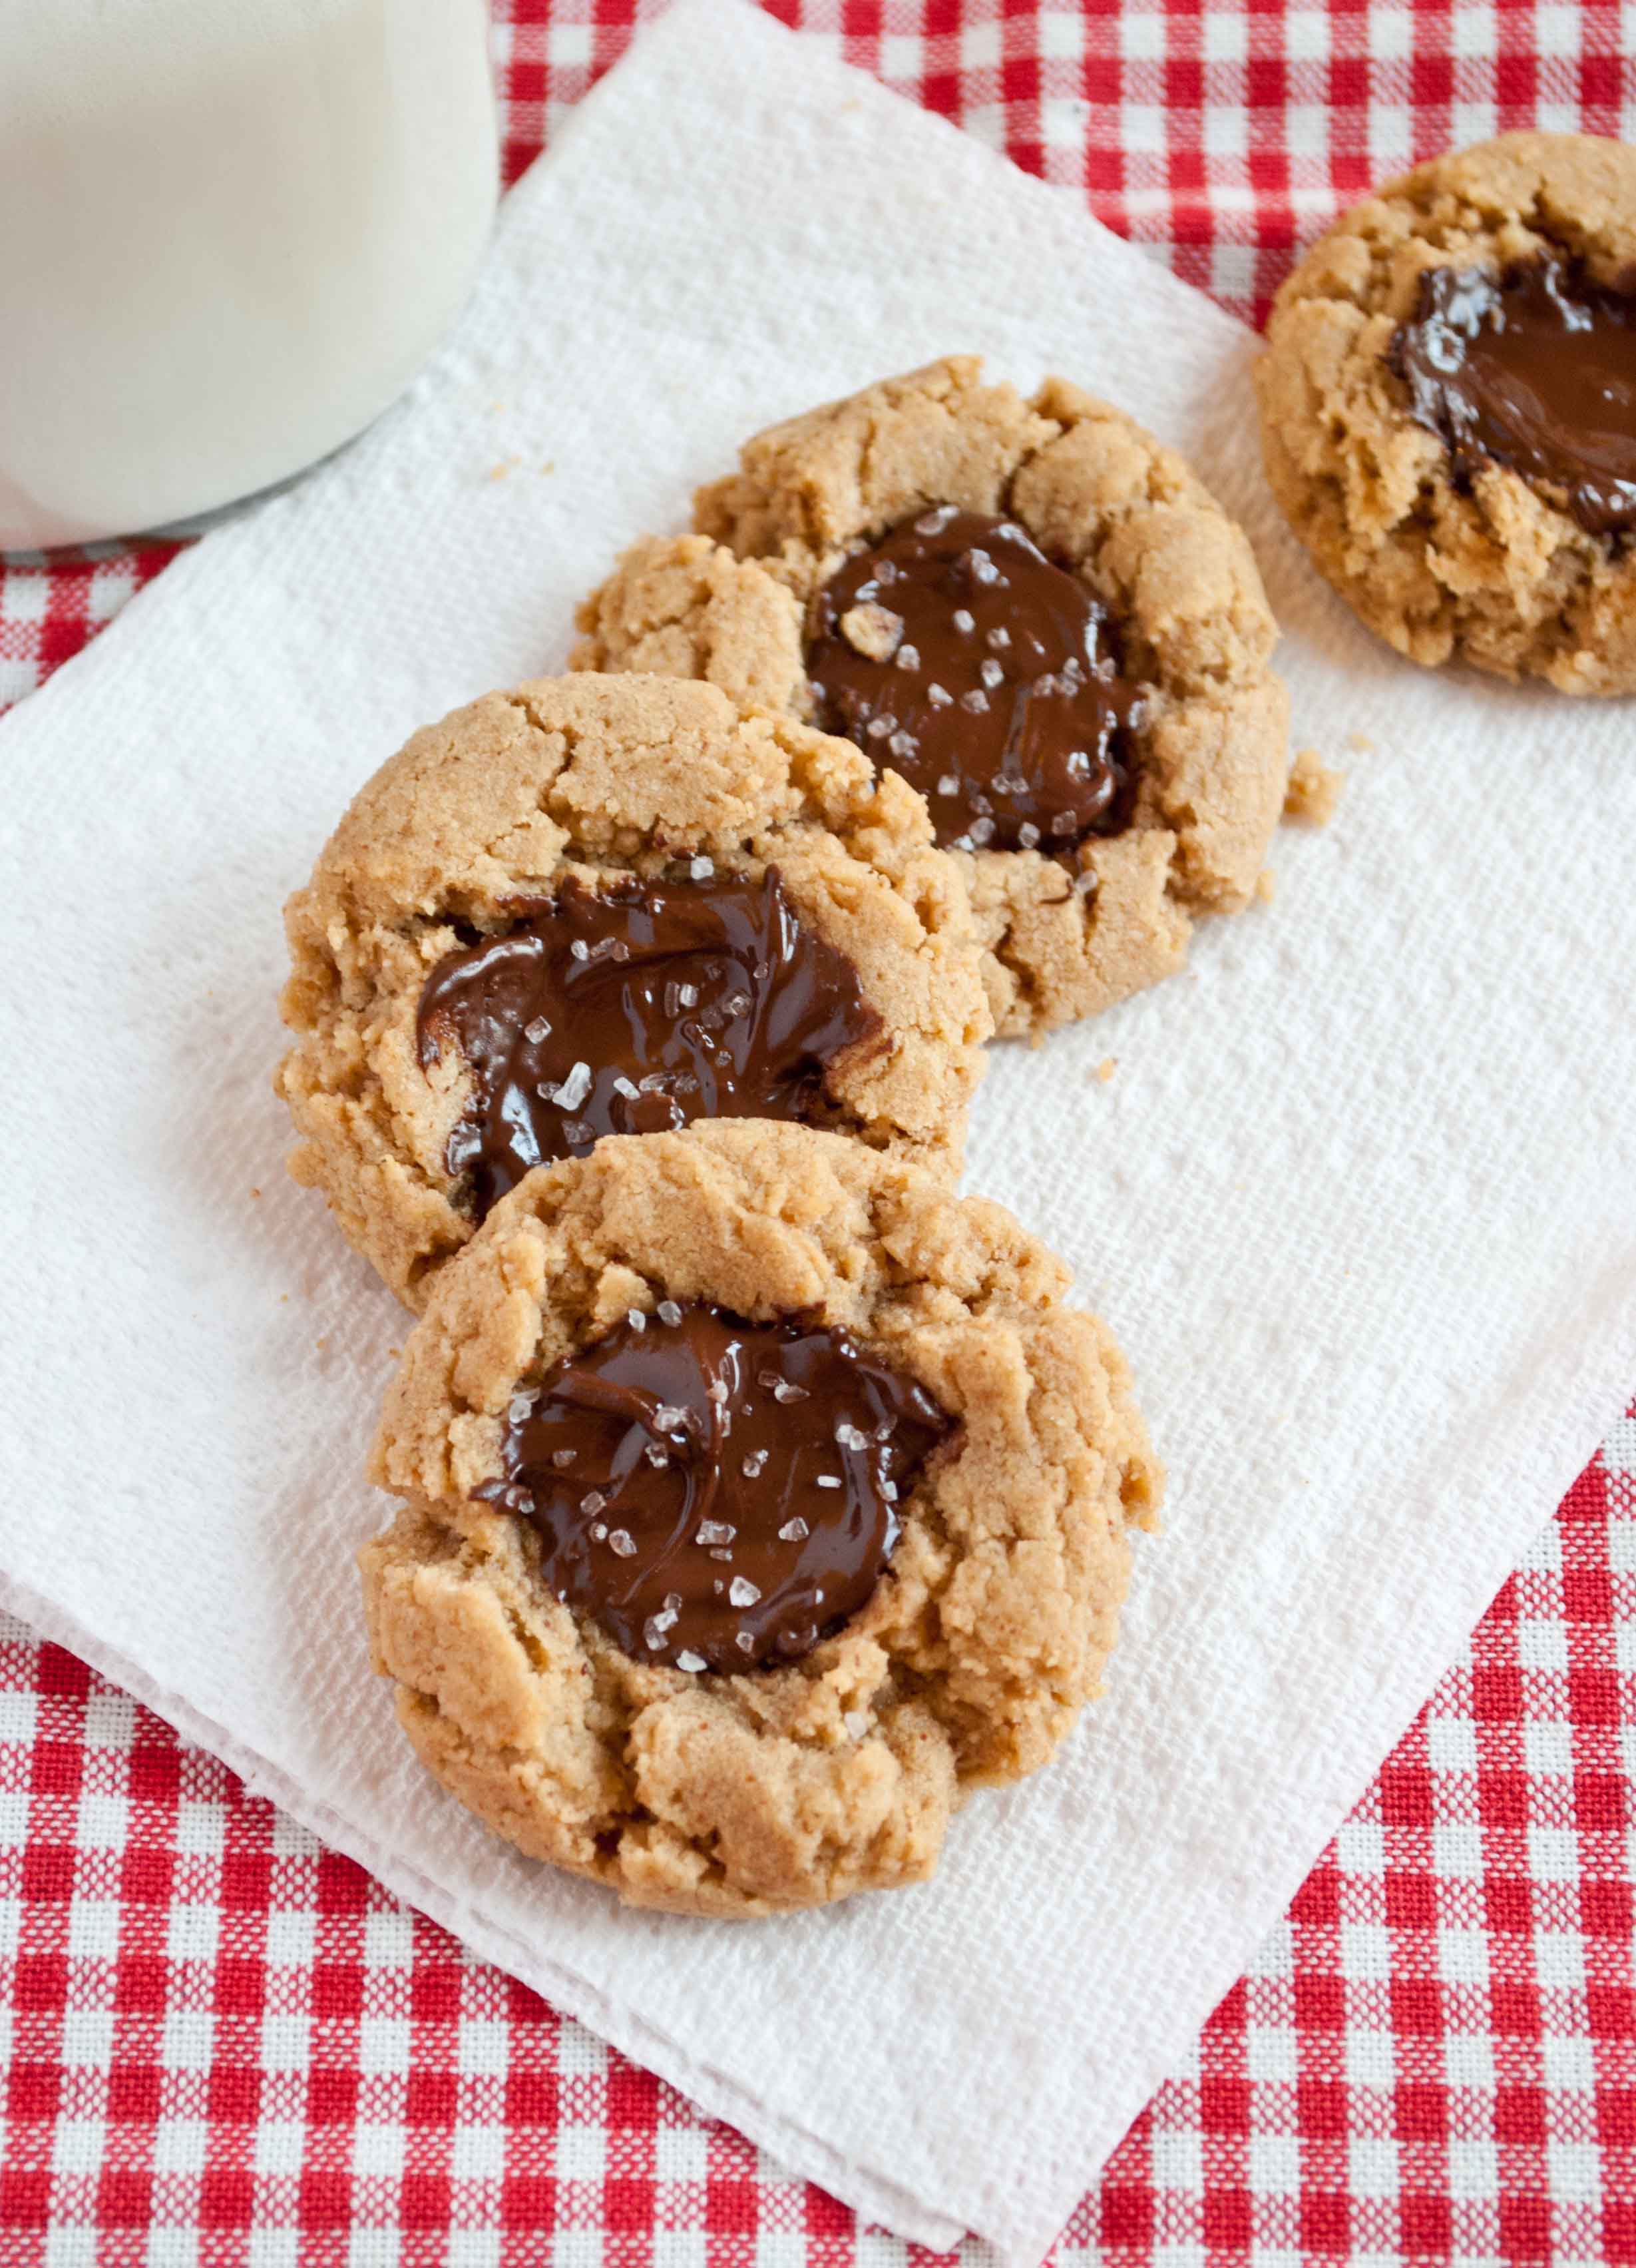
M918 787L940 844L1067 850L1131 823L1137 687L1108 610L1015 519L940 503L818 592L820 723Z

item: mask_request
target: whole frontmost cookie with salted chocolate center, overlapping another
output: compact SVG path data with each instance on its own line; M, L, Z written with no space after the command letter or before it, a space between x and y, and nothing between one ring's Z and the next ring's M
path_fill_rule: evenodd
M372 1476L421 1762L632 1905L931 1873L1097 1692L1160 1467L1108 1331L995 1204L700 1120L530 1173L437 1277Z

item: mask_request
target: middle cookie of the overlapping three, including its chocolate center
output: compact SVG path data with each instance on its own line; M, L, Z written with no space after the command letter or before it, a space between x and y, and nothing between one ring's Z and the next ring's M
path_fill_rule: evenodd
M417 733L286 909L299 1148L410 1306L532 1166L698 1116L954 1175L988 1036L961 875L845 739L542 678Z

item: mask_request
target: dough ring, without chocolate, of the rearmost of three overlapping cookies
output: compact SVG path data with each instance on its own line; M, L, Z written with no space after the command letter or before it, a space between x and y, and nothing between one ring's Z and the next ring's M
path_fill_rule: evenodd
M1131 417L1063 379L1024 401L949 356L773 426L698 492L698 533L637 544L585 601L573 667L671 669L807 717L816 594L884 531L949 503L1008 515L1090 585L1147 689L1124 832L1058 855L956 850L997 1030L1045 1032L1169 975L1201 914L1244 907L1285 794L1287 696L1255 558Z

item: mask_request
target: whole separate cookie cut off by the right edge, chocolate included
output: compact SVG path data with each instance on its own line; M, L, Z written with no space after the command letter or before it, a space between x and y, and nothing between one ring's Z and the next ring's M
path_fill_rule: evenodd
M1273 302L1273 494L1414 662L1636 689L1636 150L1502 134L1375 191Z

